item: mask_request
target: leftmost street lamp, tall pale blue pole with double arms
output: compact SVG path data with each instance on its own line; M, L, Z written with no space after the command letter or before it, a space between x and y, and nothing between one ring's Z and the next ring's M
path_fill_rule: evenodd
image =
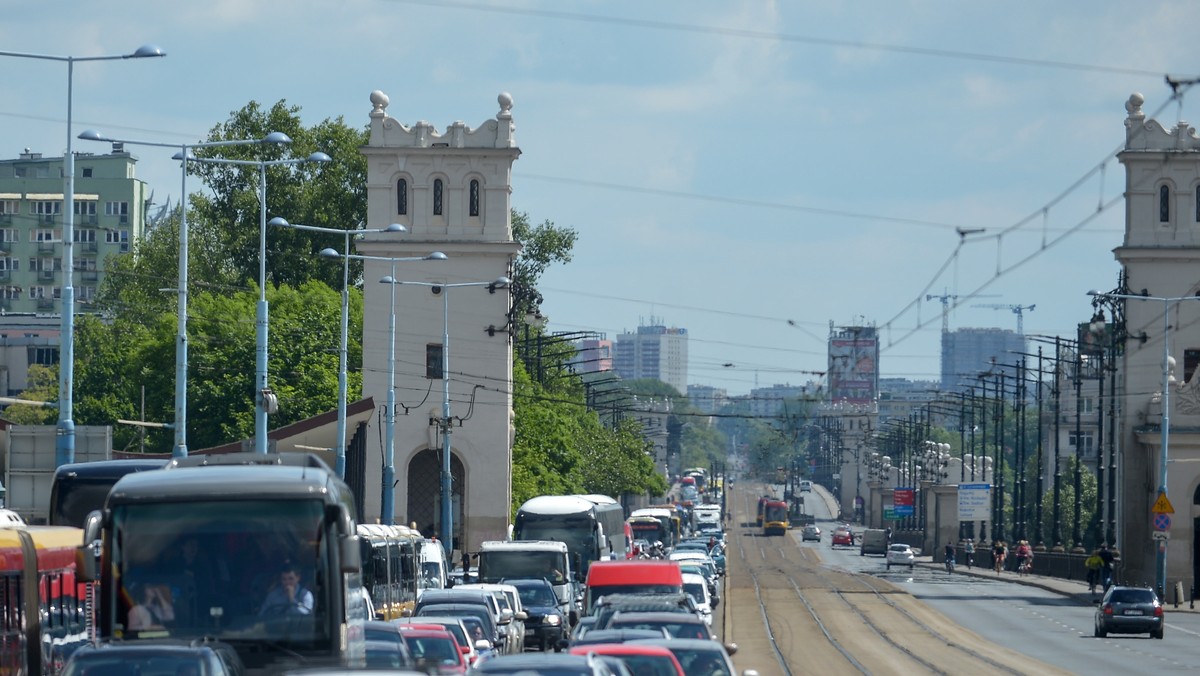
M107 56L56 56L25 52L0 52L0 56L65 61L67 64L67 150L62 156L62 328L59 339L59 423L54 442L56 466L74 462L74 420L72 420L74 395L74 152L71 144L73 114L74 65L77 61L116 61L124 59L151 59L167 53L154 44L143 44L132 54Z

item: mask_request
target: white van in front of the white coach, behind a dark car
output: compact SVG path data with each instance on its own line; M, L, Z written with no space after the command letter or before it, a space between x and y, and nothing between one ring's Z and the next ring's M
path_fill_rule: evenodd
M571 626L580 618L578 556L558 540L485 540L479 545L479 581L542 578L554 587L558 609Z

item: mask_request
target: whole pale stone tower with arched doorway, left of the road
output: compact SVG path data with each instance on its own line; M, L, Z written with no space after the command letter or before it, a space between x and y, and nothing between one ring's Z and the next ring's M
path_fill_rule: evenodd
M426 534L442 531L443 378L449 376L455 549L478 550L482 540L504 539L509 524L510 297L506 288L455 285L508 276L520 251L510 222L512 163L521 155L512 98L502 94L494 119L479 127L456 121L443 133L426 121L407 126L391 118L382 91L371 94L371 136L362 148L367 227L400 223L407 232L360 240L356 252L397 258L440 251L448 258L364 262L362 394L386 402L394 371L396 400L394 487L383 485L388 412L380 406L367 430L364 514L367 521L379 518L384 490L392 490L396 524L415 522ZM413 283L380 283L392 270L397 281Z

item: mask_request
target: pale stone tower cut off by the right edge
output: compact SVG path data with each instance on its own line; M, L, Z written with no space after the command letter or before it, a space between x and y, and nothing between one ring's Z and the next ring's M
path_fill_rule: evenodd
M1200 292L1200 137L1184 121L1166 128L1142 112L1145 98L1126 103L1124 241L1114 250L1132 294L1159 299ZM1164 310L1166 316L1164 317ZM1168 495L1175 508L1166 549L1166 585L1189 588L1200 578L1200 299L1126 300L1124 353L1118 359L1122 431L1117 544L1122 580L1156 579L1152 505L1162 454L1164 333L1169 349ZM1164 322L1165 319L1165 322ZM1165 327L1165 328L1164 328ZM1165 544L1165 543L1164 543Z

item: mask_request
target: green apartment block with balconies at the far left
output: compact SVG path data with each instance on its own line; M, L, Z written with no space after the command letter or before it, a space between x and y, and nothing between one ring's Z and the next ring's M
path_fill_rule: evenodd
M142 237L149 192L137 160L114 144L107 155L77 152L74 261L62 259L62 157L28 149L0 160L0 313L59 315L65 270L76 312L88 312L104 262Z

